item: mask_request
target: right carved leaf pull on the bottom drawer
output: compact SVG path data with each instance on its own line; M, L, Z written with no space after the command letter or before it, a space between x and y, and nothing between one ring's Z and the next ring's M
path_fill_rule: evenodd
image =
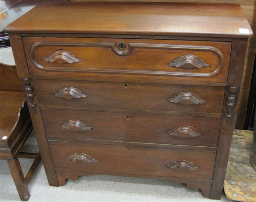
M185 160L179 160L172 162L165 167L175 170L175 171L181 171L181 172L186 172L186 171L192 171L192 170L198 170L200 169L199 167L196 167L194 164L191 162L187 162Z

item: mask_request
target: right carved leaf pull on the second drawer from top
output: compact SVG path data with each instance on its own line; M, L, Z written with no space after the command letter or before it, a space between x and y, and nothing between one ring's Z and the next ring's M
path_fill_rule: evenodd
M199 97L197 94L194 94L192 92L180 92L168 100L170 102L175 102L182 105L197 105L206 102L205 100L202 100L202 98Z

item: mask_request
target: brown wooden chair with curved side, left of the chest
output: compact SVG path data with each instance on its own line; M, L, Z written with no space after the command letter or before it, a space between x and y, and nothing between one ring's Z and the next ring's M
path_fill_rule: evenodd
M24 201L30 198L28 183L40 162L40 152L20 152L32 130L16 67L0 63L0 159L7 160L19 196ZM26 177L18 158L35 159Z

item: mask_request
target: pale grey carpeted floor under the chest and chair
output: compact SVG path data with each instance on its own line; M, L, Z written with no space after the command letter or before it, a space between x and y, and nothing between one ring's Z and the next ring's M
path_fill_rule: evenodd
M14 65L11 48L0 49L0 62ZM36 150L35 136L32 134L25 149ZM31 159L21 159L27 172ZM79 180L67 180L65 186L49 186L42 162L29 184L30 202L36 201L169 201L169 202L232 202L224 194L221 200L202 197L199 190L187 189L185 184L175 184L168 180L128 178L104 175L81 176ZM20 201L13 183L8 164L0 160L0 201Z

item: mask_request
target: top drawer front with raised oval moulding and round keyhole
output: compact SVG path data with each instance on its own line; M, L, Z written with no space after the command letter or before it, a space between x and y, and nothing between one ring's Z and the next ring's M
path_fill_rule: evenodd
M231 50L231 43L182 40L23 38L23 42L31 74L117 73L223 83Z

